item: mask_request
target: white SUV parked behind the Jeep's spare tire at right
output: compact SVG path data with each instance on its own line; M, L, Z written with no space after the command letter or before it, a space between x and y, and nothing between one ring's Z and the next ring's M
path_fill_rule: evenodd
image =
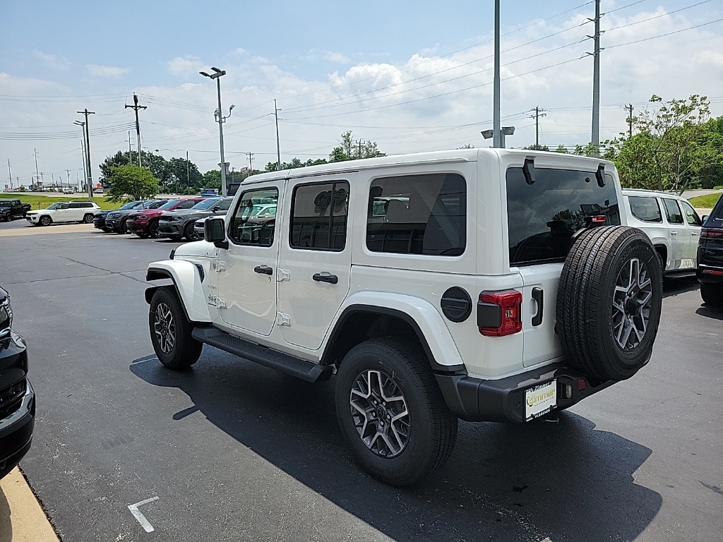
M628 225L644 231L655 246L664 273L695 272L701 218L684 197L654 190L623 189Z

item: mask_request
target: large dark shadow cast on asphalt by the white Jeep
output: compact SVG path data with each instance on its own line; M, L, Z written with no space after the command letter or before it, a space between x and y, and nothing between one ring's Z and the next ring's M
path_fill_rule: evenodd
M574 413L561 413L554 424L461 422L447 465L420 486L397 489L352 460L337 426L333 379L308 384L208 346L187 371L168 371L154 356L130 370L192 400L169 424L200 410L237 442L396 541L632 541L662 505L658 493L633 479L651 450L596 431Z

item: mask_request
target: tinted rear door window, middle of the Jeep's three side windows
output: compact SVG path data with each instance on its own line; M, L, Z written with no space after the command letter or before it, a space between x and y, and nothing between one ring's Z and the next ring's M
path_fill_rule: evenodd
M349 184L346 181L296 186L291 204L291 248L343 250L348 202ZM276 207L267 206L262 212L273 217Z

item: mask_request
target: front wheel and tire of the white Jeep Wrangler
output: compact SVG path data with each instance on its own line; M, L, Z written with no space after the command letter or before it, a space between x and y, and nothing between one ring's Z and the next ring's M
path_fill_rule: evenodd
M148 313L150 342L163 366L187 369L201 356L203 344L191 336L192 324L174 288L164 286L153 293Z

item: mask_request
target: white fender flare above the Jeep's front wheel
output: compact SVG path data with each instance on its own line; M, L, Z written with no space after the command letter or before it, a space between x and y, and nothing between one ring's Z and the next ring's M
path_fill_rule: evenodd
M211 322L206 304L206 296L197 266L182 259L167 259L162 262L151 262L145 274L145 280L171 279L186 309L191 322ZM145 300L150 303L159 287L153 286L145 292Z

